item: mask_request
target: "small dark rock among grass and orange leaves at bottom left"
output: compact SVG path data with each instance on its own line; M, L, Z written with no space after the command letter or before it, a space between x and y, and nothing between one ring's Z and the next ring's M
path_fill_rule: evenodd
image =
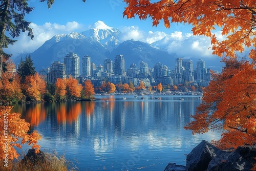
M22 160L22 162L31 162L35 163L36 161L44 161L46 160L46 155L44 152L39 150L39 153L35 153L35 149L29 149L28 153Z

